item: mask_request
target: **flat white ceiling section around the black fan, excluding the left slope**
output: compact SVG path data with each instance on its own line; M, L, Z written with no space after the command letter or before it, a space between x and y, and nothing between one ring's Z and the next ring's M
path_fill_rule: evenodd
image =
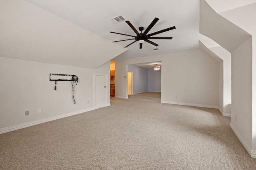
M139 27L146 29L154 18L159 18L159 21L149 33L176 26L174 30L156 35L157 37L173 37L172 40L152 40L159 45L157 47L159 50L152 51L156 46L149 43L143 43L143 48L139 49L137 42L127 47L128 50L116 57L116 60L198 49L198 39L203 37L199 33L200 0L26 1L110 41L131 38L110 33L110 31L136 35L126 22L115 24L110 21L111 18L119 15L129 20L138 31ZM133 41L121 41L117 44L125 47Z

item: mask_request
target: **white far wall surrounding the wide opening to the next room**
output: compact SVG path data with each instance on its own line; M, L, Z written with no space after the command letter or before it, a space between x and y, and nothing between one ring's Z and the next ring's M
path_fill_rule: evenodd
M162 61L162 102L218 108L219 67L199 49L116 61L115 97L127 98L127 64L152 61Z

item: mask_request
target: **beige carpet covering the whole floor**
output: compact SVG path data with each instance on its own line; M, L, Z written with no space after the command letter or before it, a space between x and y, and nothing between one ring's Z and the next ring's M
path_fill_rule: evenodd
M1 170L256 170L218 109L160 93L0 135Z

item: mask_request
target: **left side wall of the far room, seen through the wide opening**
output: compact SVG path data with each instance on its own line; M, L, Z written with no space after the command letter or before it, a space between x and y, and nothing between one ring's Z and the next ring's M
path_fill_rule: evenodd
M148 69L128 65L128 71L132 72L132 94L148 91Z

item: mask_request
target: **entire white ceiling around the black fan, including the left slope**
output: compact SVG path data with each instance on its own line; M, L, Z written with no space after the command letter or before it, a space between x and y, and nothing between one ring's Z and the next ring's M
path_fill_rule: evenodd
M200 0L0 0L0 55L45 63L96 68L106 61L161 55L198 49ZM175 26L151 40L159 46L139 43L110 31L136 35L121 15L138 30L159 21L148 33ZM139 30L138 30L139 31ZM158 50L152 50L156 49ZM87 65L86 65L87 63Z

